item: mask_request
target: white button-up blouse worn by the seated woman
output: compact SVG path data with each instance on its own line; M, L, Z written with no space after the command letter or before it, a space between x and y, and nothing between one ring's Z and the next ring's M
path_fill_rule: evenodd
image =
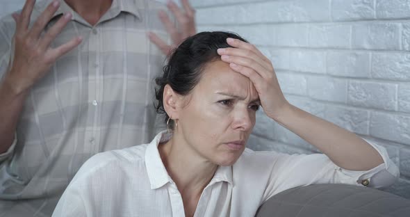
M163 131L149 144L92 156L63 193L53 216L185 216L181 194L158 152L158 144L171 136ZM371 145L384 163L368 171L344 170L325 154L246 149L233 166L218 168L202 192L195 216L254 216L272 195L296 186L393 184L397 166L384 147Z

